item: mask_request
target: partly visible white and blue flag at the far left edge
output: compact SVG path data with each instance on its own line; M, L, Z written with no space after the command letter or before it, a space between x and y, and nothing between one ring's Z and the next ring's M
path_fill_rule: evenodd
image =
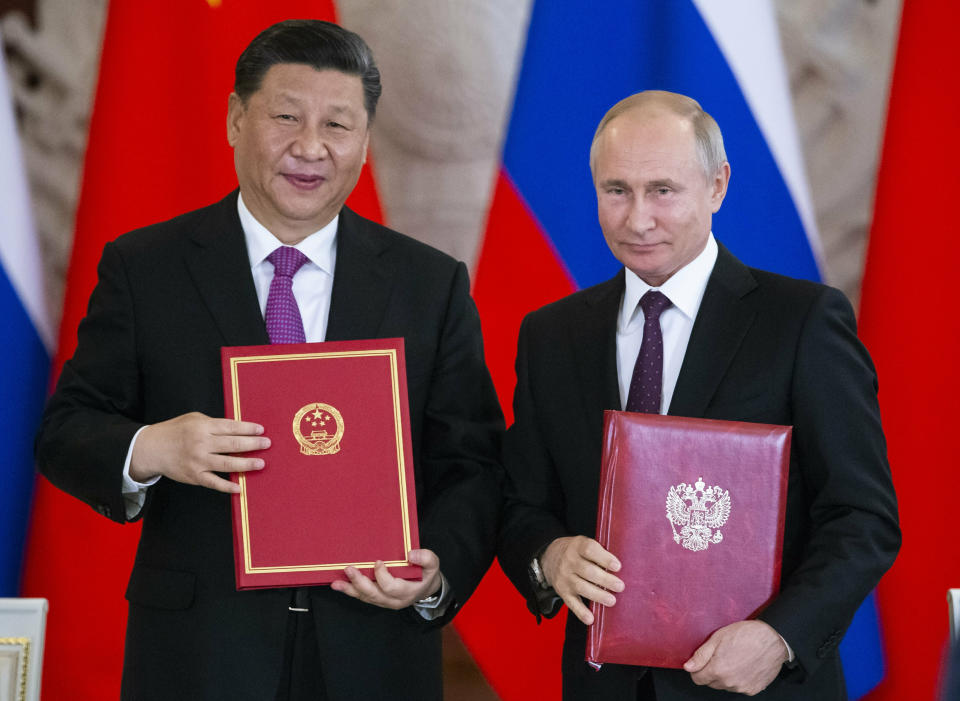
M16 596L53 330L0 45L0 596Z

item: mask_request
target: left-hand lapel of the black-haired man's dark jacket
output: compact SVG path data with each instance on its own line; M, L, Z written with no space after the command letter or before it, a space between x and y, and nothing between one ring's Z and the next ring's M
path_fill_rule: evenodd
M237 192L208 207L206 214L190 233L196 248L186 260L200 296L225 345L270 343L237 214Z

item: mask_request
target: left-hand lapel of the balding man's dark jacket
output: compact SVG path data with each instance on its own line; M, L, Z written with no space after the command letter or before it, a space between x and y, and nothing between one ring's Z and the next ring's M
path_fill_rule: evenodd
M623 269L584 293L578 318L570 320L574 357L584 410L601 435L604 409L620 408L617 383L617 314L623 296Z

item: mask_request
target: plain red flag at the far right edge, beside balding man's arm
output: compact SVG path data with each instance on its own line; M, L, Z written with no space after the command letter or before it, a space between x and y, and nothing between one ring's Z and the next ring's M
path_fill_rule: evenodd
M946 590L960 586L958 26L956 0L903 5L863 281L860 335L880 377L903 529L900 556L879 588L887 675L868 696L875 701L936 697Z

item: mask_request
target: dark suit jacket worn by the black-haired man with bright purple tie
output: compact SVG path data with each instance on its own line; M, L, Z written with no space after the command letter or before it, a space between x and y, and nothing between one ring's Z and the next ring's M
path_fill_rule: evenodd
M220 347L269 343L236 200L104 248L37 460L115 521L124 521L121 468L134 432L191 411L223 416ZM344 208L327 339L395 336L406 344L420 542L439 555L459 605L493 557L503 422L467 272ZM236 591L228 496L161 479L142 515L123 697L272 699L290 593ZM438 625L328 587L311 597L330 699L440 697Z

